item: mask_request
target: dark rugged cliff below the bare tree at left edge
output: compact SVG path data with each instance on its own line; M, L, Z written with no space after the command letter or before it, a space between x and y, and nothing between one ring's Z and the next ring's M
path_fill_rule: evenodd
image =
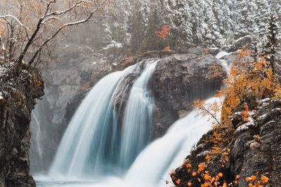
M30 119L35 99L44 95L44 83L37 70L13 65L0 67L0 186L36 186L30 172Z

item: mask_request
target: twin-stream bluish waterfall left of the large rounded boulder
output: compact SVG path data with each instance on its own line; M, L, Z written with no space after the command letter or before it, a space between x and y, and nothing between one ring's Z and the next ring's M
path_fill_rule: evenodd
M122 150L126 149L127 153L130 152L130 161L133 162L150 140L152 99L147 86L157 64L155 60L151 62L143 61L124 71L112 73L95 85L77 109L63 135L49 171L51 178L72 181L119 174L122 170L120 163L124 161L119 155L120 147ZM133 84L124 125L120 125L114 106L117 90L127 75L139 71L141 64L145 64L145 70ZM136 109L132 110L133 107ZM127 139L131 139L136 125L138 132L141 132L139 135L135 134L138 140L125 144Z

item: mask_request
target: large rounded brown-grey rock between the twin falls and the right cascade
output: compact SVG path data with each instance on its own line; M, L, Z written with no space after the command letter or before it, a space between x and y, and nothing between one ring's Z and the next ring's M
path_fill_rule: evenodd
M154 138L161 137L180 116L192 109L195 99L206 99L221 87L223 71L216 74L212 55L171 55L159 61L152 78L155 98Z

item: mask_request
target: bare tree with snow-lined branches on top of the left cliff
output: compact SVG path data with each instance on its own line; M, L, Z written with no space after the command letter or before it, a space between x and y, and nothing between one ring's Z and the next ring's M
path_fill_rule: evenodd
M68 27L102 19L109 0L6 0L0 3L0 62L29 67Z

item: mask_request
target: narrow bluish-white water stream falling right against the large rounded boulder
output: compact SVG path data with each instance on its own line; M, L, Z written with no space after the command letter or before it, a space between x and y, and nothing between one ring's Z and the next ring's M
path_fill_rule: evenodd
M157 62L147 64L143 74L131 88L122 125L120 162L127 168L135 160L151 137L153 102L148 89L148 81ZM144 117L145 116L145 117Z

